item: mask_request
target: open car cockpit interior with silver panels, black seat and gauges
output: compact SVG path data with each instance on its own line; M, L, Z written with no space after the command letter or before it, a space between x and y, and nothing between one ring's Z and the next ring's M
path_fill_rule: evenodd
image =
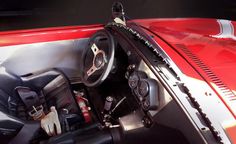
M204 143L150 65L118 33L105 28L90 38L1 49L14 51L0 67L2 143ZM46 113L56 107L62 134L49 137L40 129L26 112L28 99Z

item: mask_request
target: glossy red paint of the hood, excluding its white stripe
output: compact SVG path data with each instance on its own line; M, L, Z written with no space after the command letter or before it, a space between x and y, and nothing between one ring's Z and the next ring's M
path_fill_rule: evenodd
M208 83L214 83L202 67L194 61L183 48L198 58L220 81L235 95L236 91L236 41L230 38L215 38L220 33L220 26L213 19L174 19L174 20L139 20L170 46L180 53L194 68L197 69ZM235 23L233 23L235 26ZM163 47L165 48L165 47ZM177 62L177 61L176 61ZM183 69L184 70L184 69ZM188 73L188 71L184 71ZM218 83L215 83L216 85ZM212 85L213 87L213 85ZM219 93L220 91L217 90ZM222 95L220 95L222 96ZM222 98L223 101L227 98ZM236 97L231 97L231 100ZM225 101L228 104L228 102ZM236 105L230 107L236 116Z

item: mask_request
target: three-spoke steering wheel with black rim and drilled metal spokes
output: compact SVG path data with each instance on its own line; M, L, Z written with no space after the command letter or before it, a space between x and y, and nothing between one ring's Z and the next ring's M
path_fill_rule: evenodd
M86 86L101 84L113 67L115 42L107 30L97 31L82 56L82 81Z

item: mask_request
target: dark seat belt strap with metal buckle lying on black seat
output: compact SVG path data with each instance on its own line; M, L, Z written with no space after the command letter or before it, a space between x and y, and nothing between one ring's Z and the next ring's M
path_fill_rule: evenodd
M39 96L35 91L32 91L28 87L22 86L16 87L16 91L26 106L29 116L31 116L34 120L40 120L45 116L43 105L41 104Z

